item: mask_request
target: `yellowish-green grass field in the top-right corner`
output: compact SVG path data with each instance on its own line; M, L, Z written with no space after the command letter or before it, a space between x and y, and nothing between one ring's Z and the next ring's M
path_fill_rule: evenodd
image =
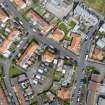
M100 13L101 15L105 16L105 0L84 0L86 4Z

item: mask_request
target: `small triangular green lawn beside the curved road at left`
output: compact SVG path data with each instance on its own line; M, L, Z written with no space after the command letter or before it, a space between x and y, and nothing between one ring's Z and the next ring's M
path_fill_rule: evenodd
M11 78L16 77L16 76L19 76L19 75L21 75L21 74L23 74L23 73L24 73L24 72L22 72L20 69L18 69L18 68L15 67L15 66L11 66L11 67L10 67L9 76L10 76Z

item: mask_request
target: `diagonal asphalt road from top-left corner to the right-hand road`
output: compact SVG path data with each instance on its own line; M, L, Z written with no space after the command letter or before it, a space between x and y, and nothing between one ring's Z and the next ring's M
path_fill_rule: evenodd
M38 41L38 42L43 42L44 44L47 45L52 45L54 48L56 48L59 52L62 52L63 56L69 56L71 58L73 58L74 60L77 60L78 57L77 55L75 55L73 52L70 52L68 50L65 50L65 48L61 47L57 42L46 38L46 36L40 36L39 32L34 32L33 28L32 28L32 24L28 23L23 17L22 15L17 11L17 9L12 5L12 3L9 0L6 0L4 3L6 10L11 13L13 16L18 17L22 23L23 26L25 28L25 30L27 32L29 32L30 37L33 35L34 38ZM8 6L7 6L8 5Z

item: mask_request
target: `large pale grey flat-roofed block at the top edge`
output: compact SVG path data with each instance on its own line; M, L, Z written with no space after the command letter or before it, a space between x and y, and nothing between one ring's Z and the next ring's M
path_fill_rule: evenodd
M70 12L73 7L73 0L42 0L47 11L60 19Z

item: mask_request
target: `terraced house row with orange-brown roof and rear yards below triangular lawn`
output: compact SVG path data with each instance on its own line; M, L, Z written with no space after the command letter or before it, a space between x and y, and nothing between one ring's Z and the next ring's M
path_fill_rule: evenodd
M14 84L14 91L18 97L21 105L31 105L33 99L33 90L30 85L29 79L25 74L20 75L17 78L17 82Z

